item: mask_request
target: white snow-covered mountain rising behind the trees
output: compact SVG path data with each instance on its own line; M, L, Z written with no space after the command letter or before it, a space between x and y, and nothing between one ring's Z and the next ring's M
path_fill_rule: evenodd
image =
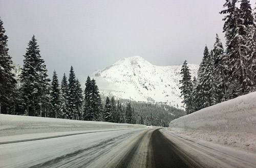
M92 77L104 96L114 95L122 99L160 102L183 108L179 89L181 66L155 66L142 57L134 56L96 71ZM188 64L188 67L191 76L196 76L199 66Z

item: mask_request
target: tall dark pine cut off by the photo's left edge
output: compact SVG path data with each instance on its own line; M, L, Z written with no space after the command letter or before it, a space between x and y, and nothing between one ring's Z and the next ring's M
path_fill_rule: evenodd
M14 94L16 80L12 73L12 59L8 54L8 37L5 35L3 21L0 18L0 114L8 114L10 98Z

